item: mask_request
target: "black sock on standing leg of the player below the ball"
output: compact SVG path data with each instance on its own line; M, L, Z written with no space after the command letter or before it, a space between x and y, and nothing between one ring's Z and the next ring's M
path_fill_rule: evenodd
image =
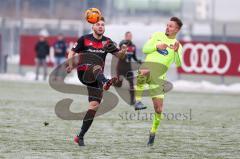
M88 129L92 125L95 114L96 114L95 110L88 109L85 117L83 118L83 124L82 124L82 128L81 128L81 132L78 135L80 138L83 138L85 133L88 131Z

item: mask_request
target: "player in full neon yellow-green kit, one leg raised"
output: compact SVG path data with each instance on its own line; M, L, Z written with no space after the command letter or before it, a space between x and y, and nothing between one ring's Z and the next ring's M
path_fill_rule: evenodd
M163 81L166 80L166 72L172 63L181 66L182 46L176 40L183 23L177 17L170 18L166 31L156 32L143 46L146 54L145 62L138 71L136 85L135 110L145 109L141 102L144 85L149 86L155 114L150 131L148 145L152 146L160 121L163 119Z

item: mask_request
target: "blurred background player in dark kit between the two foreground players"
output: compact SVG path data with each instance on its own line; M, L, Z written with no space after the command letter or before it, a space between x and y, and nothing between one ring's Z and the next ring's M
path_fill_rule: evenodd
M138 60L136 57L136 46L132 42L132 33L130 31L127 31L125 33L125 38L122 40L119 44L119 47L121 48L123 45L127 46L127 53L126 56L123 59L119 59L117 63L117 77L118 80L114 84L116 87L121 87L123 78L129 82L129 93L130 93L130 105L135 104L135 96L134 96L134 83L133 83L133 72L132 72L132 66L131 62L132 59L141 64L141 60Z

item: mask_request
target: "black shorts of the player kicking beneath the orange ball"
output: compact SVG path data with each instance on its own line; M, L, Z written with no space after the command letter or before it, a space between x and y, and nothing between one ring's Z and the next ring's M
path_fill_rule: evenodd
M87 86L88 101L97 101L101 103L103 96L103 85L96 81L92 71L78 71L78 79Z

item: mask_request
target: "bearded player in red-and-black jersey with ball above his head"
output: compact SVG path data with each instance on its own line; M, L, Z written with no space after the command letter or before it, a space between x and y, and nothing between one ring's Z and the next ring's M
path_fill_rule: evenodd
M100 21L93 24L92 30L92 34L80 37L68 54L69 63L67 71L71 72L74 67L74 54L81 53L80 62L78 62L77 66L78 78L87 86L88 90L89 108L83 119L81 131L74 138L74 141L77 142L79 146L85 146L84 135L93 122L102 99L103 90L108 90L117 80L116 77L106 79L103 74L107 53L111 53L118 58L124 58L127 51L126 46L119 50L110 38L103 35L105 32L103 17Z

